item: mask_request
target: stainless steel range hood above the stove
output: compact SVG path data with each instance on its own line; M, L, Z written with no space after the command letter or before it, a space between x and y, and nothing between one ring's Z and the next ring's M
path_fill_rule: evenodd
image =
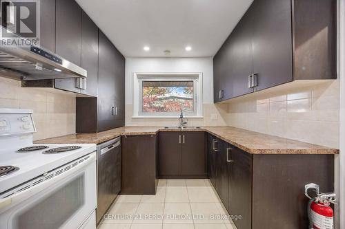
M5 30L0 27L1 30ZM19 39L19 36L17 36ZM0 76L18 80L85 78L86 69L39 46L0 47Z

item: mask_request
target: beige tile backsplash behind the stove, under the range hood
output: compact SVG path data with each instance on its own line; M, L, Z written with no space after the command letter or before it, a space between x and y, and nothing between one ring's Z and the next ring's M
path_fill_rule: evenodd
M75 95L56 89L22 88L17 80L0 77L0 108L34 111L34 140L75 133Z

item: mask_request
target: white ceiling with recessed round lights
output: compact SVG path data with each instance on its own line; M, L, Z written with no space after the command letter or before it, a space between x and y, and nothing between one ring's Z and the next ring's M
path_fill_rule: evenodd
M130 57L214 56L253 0L77 0ZM143 47L148 45L149 52ZM186 52L190 45L192 50Z

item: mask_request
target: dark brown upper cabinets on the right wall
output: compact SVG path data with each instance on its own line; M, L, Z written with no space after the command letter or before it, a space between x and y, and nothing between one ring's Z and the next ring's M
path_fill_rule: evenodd
M336 79L336 1L254 0L213 59L214 101Z

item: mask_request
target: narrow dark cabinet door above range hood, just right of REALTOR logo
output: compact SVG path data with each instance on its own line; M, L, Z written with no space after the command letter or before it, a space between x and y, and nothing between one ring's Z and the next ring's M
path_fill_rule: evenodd
M39 1L41 8L40 46L55 52L55 0Z

